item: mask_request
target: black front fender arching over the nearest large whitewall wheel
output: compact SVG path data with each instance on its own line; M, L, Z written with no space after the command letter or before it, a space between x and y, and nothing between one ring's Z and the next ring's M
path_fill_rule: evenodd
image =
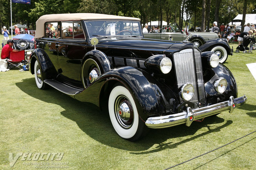
M157 86L156 80L147 72L125 66L111 69L102 74L84 91L76 94L75 98L83 102L93 102L99 106L100 97L107 96L117 82L122 83L134 97L138 113L144 121L148 116L165 113L165 98ZM108 87L106 87L108 86ZM99 96L98 99L92 96ZM106 101L105 101L106 102Z

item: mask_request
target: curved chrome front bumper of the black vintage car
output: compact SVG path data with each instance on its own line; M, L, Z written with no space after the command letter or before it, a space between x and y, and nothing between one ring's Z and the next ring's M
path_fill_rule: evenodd
M193 111L190 107L188 107L186 111L183 111L181 113L166 116L149 117L145 122L145 125L150 128L165 128L186 123L187 126L190 126L194 120L212 116L223 111L229 111L230 113L232 113L234 108L243 105L246 101L246 96L241 96L236 99L234 99L233 96L230 96L230 99L228 101L209 105L204 108L198 108Z

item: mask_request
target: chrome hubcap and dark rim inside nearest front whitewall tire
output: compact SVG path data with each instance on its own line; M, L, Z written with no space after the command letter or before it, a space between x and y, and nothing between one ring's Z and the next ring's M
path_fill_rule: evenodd
M119 125L128 129L133 124L133 108L125 96L118 96L115 102L115 116Z

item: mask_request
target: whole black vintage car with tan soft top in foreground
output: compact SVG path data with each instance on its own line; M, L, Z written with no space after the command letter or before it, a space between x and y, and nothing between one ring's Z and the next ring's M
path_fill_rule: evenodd
M108 109L122 138L135 141L148 127L190 126L247 100L216 54L191 42L145 39L138 18L50 14L36 28L29 68L38 88Z

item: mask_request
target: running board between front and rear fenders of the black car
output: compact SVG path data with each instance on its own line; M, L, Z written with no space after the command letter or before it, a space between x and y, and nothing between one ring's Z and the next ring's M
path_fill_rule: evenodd
M46 80L44 80L44 82L46 84L52 86L53 88L57 89L58 91L61 91L62 93L68 94L71 96L74 96L74 95L78 94L79 92L83 91L81 89L73 88L68 85L65 85L61 82L58 82L55 79L46 79Z

